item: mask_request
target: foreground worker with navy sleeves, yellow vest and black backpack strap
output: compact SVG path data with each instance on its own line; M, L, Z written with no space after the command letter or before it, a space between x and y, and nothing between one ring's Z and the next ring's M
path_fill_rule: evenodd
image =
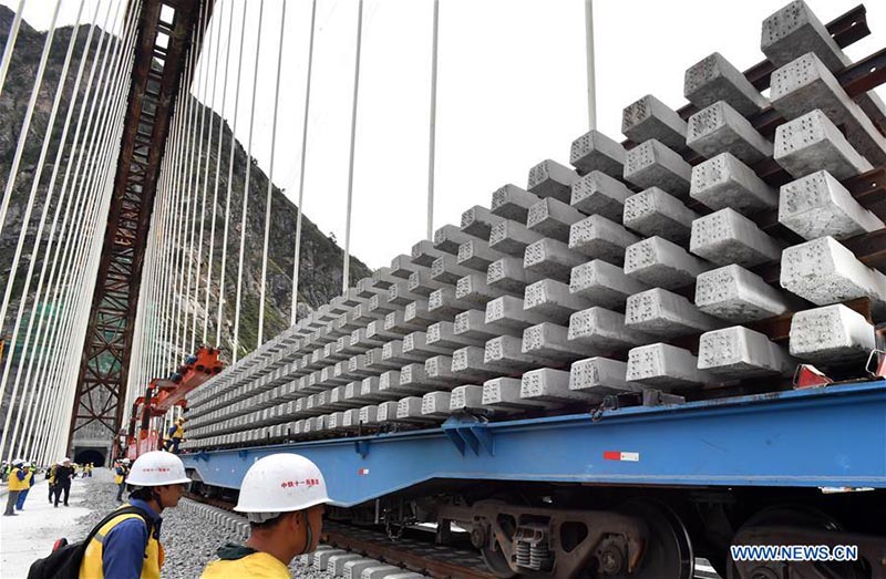
M136 458L126 477L126 484L135 487L128 504L144 515L123 514L99 529L83 555L80 579L159 579L161 514L178 505L189 483L185 465L175 455L153 451Z

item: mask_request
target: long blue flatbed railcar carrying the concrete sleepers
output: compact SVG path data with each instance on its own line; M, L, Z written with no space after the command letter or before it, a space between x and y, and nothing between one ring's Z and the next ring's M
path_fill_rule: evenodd
M525 529L537 531L539 521L552 536L559 533L552 545L562 552L552 551L536 572L586 572L580 566L600 555L599 540L585 545L598 538L595 525L606 535L626 525L624 516L643 521L646 531L637 533L647 535L639 540L658 541L669 555L655 567L626 567L611 577L683 577L694 554L724 577L767 578L753 575L752 564L728 562L729 545L839 540L866 545L862 561L826 564L816 571L822 575L808 577L886 572L883 380L594 415L453 416L434 428L205 451L183 459L206 488L236 489L249 465L279 452L320 465L334 504L357 519L379 521L382 513L385 523L424 518L480 529L472 541L503 577L513 576L506 560L532 546ZM858 489L866 492L848 492ZM495 520L502 516L506 520ZM578 531L586 538L567 540L567 519L587 527ZM607 548L627 556L625 535L624 545L612 539Z

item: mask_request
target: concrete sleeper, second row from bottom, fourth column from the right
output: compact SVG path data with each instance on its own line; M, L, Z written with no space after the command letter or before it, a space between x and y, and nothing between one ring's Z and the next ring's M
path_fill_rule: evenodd
M647 333L628 328L625 316L594 307L576 312L569 319L570 341L587 347L588 354L617 352L653 341Z

